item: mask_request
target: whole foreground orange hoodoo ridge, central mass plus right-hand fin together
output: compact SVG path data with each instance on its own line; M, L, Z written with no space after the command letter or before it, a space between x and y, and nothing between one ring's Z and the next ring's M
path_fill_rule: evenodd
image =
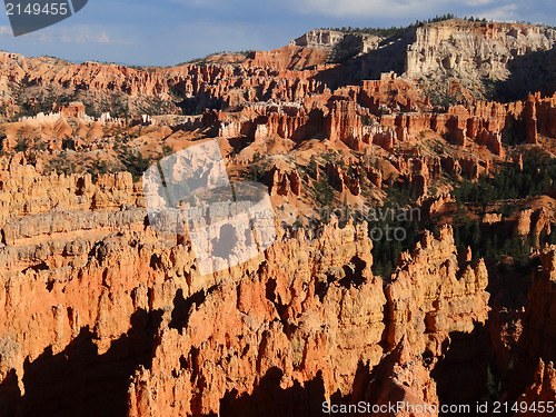
M364 398L367 386L357 377L363 369L374 376L380 364L377 375L389 378L381 373L395 360L381 360L385 348L400 346L405 351L411 346L415 354L394 356L408 356L409 363L427 350L436 363L450 332L470 334L486 320L485 267L478 264L456 278L450 229L439 240L426 236L414 256L406 256L386 292L381 279L367 269L371 259L365 255L370 247L366 236L365 228L338 230L332 225L318 239L298 235L300 242L278 242L266 261L250 267L258 268L258 276L219 285L201 304L188 306L178 328L161 327L152 365L136 374L130 415L218 413L229 400L221 403L227 393L236 398L269 395L260 386L272 368L279 375L272 384L285 390L319 381L322 391L316 404L335 394ZM334 255L329 259L327 254ZM424 269L429 272L416 272ZM413 294L404 297L400 291ZM408 380L415 379L411 373L430 378L430 367L416 367L407 370ZM397 378L391 383L403 386L404 378ZM409 398L435 404L434 383L416 384ZM396 388L381 388L383 400L396 396Z

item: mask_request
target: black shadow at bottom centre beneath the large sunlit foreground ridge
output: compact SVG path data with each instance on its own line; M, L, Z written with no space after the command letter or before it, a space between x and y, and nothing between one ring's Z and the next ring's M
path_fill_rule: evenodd
M295 383L291 388L281 389L282 371L270 368L251 395L238 397L232 390L220 400L221 417L306 417L322 416L325 387L320 373L301 387Z

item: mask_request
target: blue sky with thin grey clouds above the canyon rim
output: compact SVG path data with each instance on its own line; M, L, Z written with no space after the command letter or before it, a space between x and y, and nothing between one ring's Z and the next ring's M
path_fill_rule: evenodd
M400 26L448 12L556 26L554 0L89 0L70 19L18 38L1 13L0 49L169 66L218 51L281 48L320 27Z

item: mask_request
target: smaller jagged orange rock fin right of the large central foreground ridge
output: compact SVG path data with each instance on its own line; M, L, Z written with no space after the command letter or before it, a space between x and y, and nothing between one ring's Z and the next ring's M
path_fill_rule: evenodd
M471 332L477 324L486 321L487 284L483 261L458 270L450 228L440 231L438 241L426 234L411 255L404 254L387 287L393 324L388 341L396 345L407 335L416 353L440 356L449 332Z

